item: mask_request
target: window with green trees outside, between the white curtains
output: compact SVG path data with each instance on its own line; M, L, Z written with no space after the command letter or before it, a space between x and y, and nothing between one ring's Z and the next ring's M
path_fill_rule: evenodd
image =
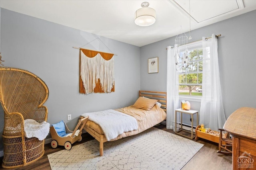
M179 95L202 96L202 41L196 45L180 47L178 54Z

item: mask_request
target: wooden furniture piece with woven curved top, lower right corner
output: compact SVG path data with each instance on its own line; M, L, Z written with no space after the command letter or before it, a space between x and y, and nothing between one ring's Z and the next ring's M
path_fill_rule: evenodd
M228 117L224 129L233 136L233 170L256 170L256 108L237 109Z

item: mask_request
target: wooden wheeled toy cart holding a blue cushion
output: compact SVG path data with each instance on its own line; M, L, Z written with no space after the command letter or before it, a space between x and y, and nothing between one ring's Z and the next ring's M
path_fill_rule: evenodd
M64 122L65 128L66 128L66 133L72 133L71 135L67 135L66 137L60 137L56 131L56 129L54 128L54 126L50 127L50 133L52 135L52 142L51 142L51 146L52 148L56 148L58 147L58 145L60 146L64 146L66 150L70 150L72 148L72 144L75 143L76 141L80 142L82 141L82 129L84 128L84 125L86 123L86 121L88 120L89 116L84 117L83 119L80 119L78 121L78 124L76 125L76 128L74 129L74 131L70 131L66 125L66 123ZM81 128L79 129L79 133L77 134L77 136L75 135L76 131L78 130L78 127L81 125Z

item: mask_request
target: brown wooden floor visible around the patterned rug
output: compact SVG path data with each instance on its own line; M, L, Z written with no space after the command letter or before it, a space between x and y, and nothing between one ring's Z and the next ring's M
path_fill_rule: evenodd
M158 125L156 127L158 129L174 133L173 130L166 129L165 125ZM92 139L94 138L88 133L84 133L82 134L82 141L74 143L73 146ZM193 158L182 168L182 170L232 170L232 156L218 154L216 152L216 150L218 150L218 145L216 143L212 143L204 139L200 139L197 142L204 144L204 146L193 156ZM51 168L47 155L62 149L64 149L64 147L61 146L57 147L56 149L52 149L50 144L46 144L44 156L42 158L27 166L16 168L15 170L50 170ZM1 165L2 159L3 157L0 158ZM4 168L1 166L0 170L3 169Z

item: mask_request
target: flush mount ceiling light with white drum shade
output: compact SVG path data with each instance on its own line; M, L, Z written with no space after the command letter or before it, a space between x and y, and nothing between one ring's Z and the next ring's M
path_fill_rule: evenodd
M148 8L148 2L142 2L142 8L135 12L135 23L139 26L149 26L156 21L156 11Z

